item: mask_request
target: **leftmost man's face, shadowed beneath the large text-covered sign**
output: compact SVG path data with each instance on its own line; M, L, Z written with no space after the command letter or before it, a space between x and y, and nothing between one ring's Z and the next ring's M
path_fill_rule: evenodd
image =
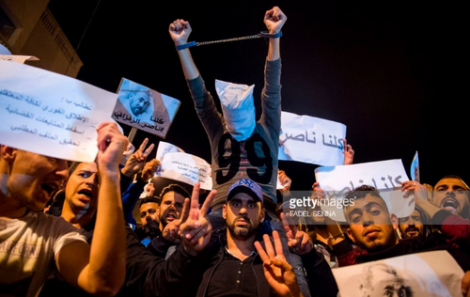
M1 146L1 158L10 168L5 181L8 195L32 211L43 211L68 175L68 162L62 159L4 145Z

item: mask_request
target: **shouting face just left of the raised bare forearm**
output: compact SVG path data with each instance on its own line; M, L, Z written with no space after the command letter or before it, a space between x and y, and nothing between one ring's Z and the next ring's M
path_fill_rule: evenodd
M99 191L98 166L82 162L70 174L65 187L65 203L73 213L94 213Z

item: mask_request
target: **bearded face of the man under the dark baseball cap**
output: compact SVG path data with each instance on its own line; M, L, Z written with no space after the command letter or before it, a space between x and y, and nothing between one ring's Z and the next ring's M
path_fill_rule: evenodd
M264 220L263 205L253 196L238 192L223 206L222 215L233 238L250 238Z

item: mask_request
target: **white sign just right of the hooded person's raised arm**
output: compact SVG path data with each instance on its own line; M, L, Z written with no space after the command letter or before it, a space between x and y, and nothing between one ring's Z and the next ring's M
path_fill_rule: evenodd
M324 166L344 163L345 125L285 111L281 123L279 160Z

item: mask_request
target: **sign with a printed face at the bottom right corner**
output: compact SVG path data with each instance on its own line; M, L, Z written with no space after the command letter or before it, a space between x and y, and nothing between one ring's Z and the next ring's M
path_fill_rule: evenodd
M331 271L340 297L462 296L464 271L447 251L415 253Z

